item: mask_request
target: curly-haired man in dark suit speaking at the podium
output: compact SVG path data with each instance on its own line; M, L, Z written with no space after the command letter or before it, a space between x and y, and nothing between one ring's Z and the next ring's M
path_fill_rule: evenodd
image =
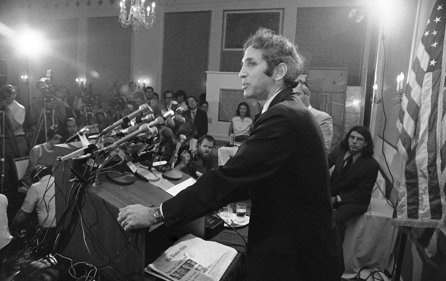
M159 207L120 209L125 230L184 223L251 198L247 280L340 280L343 258L330 206L321 129L292 94L302 71L297 47L259 29L244 45L244 97L266 100L248 140L226 165Z

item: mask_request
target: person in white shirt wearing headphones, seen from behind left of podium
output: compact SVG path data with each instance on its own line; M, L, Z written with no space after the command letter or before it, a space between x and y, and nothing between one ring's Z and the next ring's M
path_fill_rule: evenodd
M11 224L12 233L17 233L25 227L25 223L33 214L37 214L39 226L37 227L37 237L39 241L45 236L50 237L56 227L56 203L54 198L54 176L52 170L45 165L37 165L31 172L31 182L33 183L26 194L25 201L21 209L17 212ZM53 240L55 237L53 237ZM48 243L51 247L52 243ZM43 248L40 245L39 248ZM46 250L46 249L44 249Z

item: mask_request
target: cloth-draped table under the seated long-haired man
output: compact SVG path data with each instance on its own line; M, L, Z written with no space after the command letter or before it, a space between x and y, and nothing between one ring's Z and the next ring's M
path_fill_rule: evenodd
M398 236L397 228L391 224L392 213L385 199L371 198L368 210L347 222L343 278L355 277L365 266L392 272Z

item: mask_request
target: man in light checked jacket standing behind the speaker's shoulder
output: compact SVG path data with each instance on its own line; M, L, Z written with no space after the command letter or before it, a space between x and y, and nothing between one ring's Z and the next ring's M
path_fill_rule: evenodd
M322 135L324 135L324 141L325 141L325 147L328 150L330 150L331 146L331 139L333 138L333 120L331 119L331 116L328 115L328 113L317 110L313 108L310 104L310 88L308 87L308 84L299 79L299 84L293 89L293 93L296 93L299 98L301 99L302 103L308 107L310 112L314 115L316 120L319 123L319 126L321 127Z

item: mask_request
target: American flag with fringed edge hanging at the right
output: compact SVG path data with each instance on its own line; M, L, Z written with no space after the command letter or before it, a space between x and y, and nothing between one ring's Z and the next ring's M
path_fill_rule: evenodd
M405 159L396 225L440 227L445 222L445 26L446 0L437 0L417 48L396 124L398 151Z

